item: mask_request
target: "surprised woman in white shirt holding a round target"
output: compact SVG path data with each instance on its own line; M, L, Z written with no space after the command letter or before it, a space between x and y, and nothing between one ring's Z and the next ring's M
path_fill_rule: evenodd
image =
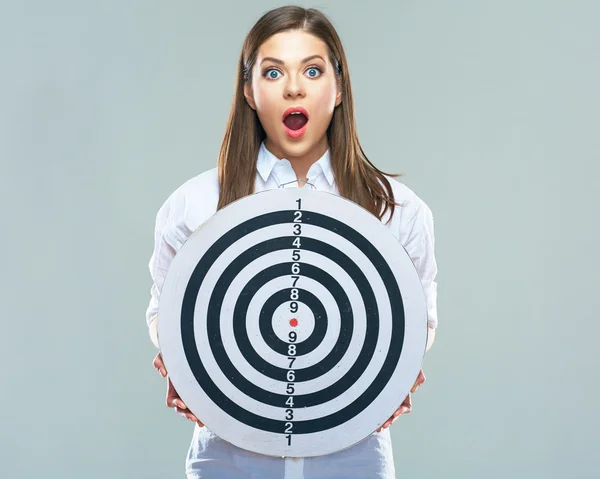
M309 182L344 196L383 221L411 256L428 304L427 349L437 326L433 219L409 188L378 170L357 138L346 56L328 19L295 6L266 13L248 33L218 168L177 188L160 208L150 260L152 298L146 318L156 338L162 283L176 251L206 219L253 192ZM167 371L160 354L154 366ZM424 382L422 372L411 392ZM167 405L196 423L188 478L395 477L388 427L411 408L410 394L376 433L334 454L280 459L239 449L203 427L168 380Z

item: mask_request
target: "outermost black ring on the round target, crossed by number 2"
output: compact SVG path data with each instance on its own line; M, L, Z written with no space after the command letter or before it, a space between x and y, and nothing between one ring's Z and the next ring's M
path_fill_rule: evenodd
M193 372L194 376L196 377L196 380L198 381L202 389L206 392L206 394L211 398L211 400L215 404L218 404L219 407L221 407L221 409L227 414L229 414L231 417L251 427L275 433L282 433L285 430L285 421L261 417L242 408L241 406L236 404L231 398L229 398L226 394L224 394L210 378L196 349L196 341L194 334L194 309L198 291L207 271L209 270L210 266L214 263L214 261L216 261L216 259L223 253L223 251L225 251L228 248L229 245L253 231L280 223L292 223L293 219L293 210L267 213L247 220L242 224L232 228L224 235L222 235L208 249L206 254L200 259L196 268L194 269L194 272L192 273L188 285L186 287L181 311L181 335L184 352L188 361L188 365L190 366L191 371ZM398 359L400 357L400 354L402 352L402 345L404 341L404 307L402 295L396 283L394 274L391 271L385 259L382 257L381 253L356 230L332 217L325 216L316 212L303 210L303 222L305 224L311 224L336 232L340 236L344 237L347 241L353 243L357 248L359 248L363 252L363 254L367 256L367 258L369 258L369 261L377 269L379 275L381 276L381 279L387 291L388 299L391 304L392 333L390 338L391 346L387 351L384 363L375 379L369 385L369 387L367 387L365 391L356 400L354 400L352 403L345 406L341 410L336 411L335 413L332 413L322 418L305 421L295 421L294 434L307 434L330 429L350 420L351 418L359 414L362 410L364 410L379 395L379 392L385 387L385 385L391 378L395 370L396 364L398 362ZM290 241L291 244L291 240L293 239L293 237L287 239ZM317 243L318 241L312 238L303 237L303 245L307 244L307 240L310 240L308 241L308 243ZM289 248L289 245L287 247ZM303 246L303 249L309 248ZM335 248L331 249L337 251L335 250ZM344 265L340 264L340 266L343 267ZM215 291L217 289L218 288L215 288L213 294L215 294ZM222 304L218 305L218 308L216 309L217 313L219 313L221 306ZM367 324L369 325L375 323L377 324L378 328L378 311L376 302L372 303L370 308L367 307L366 311L368 318ZM213 319L209 311L209 314L207 316L207 328L210 328L210 324L213 321L218 322L218 317L219 315L217 314L216 318ZM214 328L211 329L214 333ZM210 333L209 337L211 337ZM211 345L215 345L214 339L215 338L213 335L211 337ZM373 344L373 348L375 347L376 340L377 335L375 335L375 342ZM367 341L365 339L365 345L366 344ZM226 360L228 360L228 358ZM357 363L355 363L354 366L356 366ZM354 368L354 366L352 368ZM328 389L329 388L323 391L327 391ZM320 393L322 393L322 391ZM316 399L316 394L306 396ZM285 398L285 396L283 397ZM300 397L302 396L298 396L298 398ZM263 402L267 404L270 403L270 401ZM322 402L323 401L321 400L319 402L316 402L315 404L319 404ZM279 402L276 405L283 406L283 402Z

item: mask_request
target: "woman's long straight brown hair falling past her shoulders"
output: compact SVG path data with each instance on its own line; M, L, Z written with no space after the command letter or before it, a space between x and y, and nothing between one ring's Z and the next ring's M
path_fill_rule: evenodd
M354 103L346 54L335 28L319 10L284 6L264 14L248 32L238 62L237 85L218 160L219 202L217 209L254 192L256 158L266 133L256 112L244 97L244 83L258 49L272 35L303 30L321 39L342 89L342 102L335 108L327 129L331 168L341 196L359 204L380 220L394 212L394 193L381 170L369 161L356 133ZM401 176L388 174L389 176Z

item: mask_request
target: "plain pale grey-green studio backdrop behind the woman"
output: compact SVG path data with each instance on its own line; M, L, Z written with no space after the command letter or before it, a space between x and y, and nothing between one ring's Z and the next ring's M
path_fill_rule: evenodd
M184 477L154 219L215 165L242 40L283 3L0 4L0 478ZM300 4L342 37L365 151L434 214L398 477L599 477L600 3Z

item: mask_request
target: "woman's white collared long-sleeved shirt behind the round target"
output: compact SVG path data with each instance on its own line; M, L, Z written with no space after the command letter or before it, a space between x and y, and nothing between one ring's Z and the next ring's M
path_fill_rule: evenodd
M307 178L317 190L339 195L329 150L311 165ZM395 201L402 206L395 207L392 220L386 226L399 239L417 269L427 300L428 325L435 328L438 322L437 265L431 210L407 186L393 178L388 179ZM282 185L298 186L292 165L288 160L274 156L263 143L257 158L255 191ZM218 199L217 169L213 168L183 183L159 209L154 251L149 263L153 283L146 310L148 326L156 320L160 291L173 257L194 230L216 212ZM387 216L383 220L386 221ZM202 420L201 412L198 418ZM208 428L196 426L187 455L186 473L188 478L202 479L395 478L388 429L334 454L284 460L237 448Z

